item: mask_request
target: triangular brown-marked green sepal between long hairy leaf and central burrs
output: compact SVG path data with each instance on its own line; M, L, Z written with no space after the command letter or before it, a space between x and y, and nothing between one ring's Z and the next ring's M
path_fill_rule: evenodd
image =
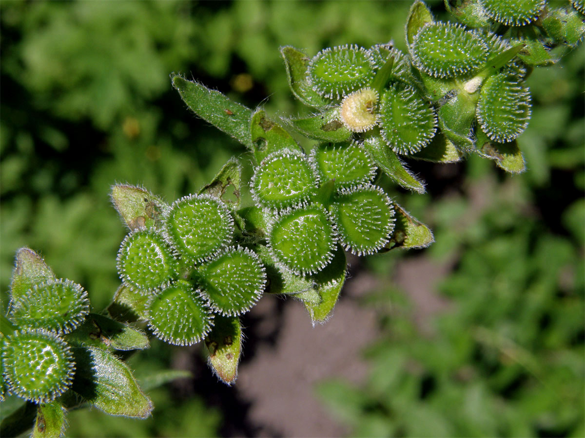
M259 108L250 119L250 135L252 135L252 151L256 162L261 162L273 152L283 149L302 152L291 134L283 127L267 119L266 112Z

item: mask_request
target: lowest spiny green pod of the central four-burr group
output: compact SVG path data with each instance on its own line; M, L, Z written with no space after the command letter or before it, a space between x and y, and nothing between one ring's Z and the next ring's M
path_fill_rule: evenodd
M274 256L296 274L319 272L327 266L335 242L326 211L316 205L286 211L269 231Z

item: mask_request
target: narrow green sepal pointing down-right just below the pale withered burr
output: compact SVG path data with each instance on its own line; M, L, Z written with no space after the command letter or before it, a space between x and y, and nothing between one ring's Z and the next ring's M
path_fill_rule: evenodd
M363 142L363 147L370 154L371 159L374 160L378 168L388 175L388 178L405 189L425 193L424 182L412 175L398 158L396 152L388 147L379 134L367 137ZM424 152L426 148L423 148L421 152Z

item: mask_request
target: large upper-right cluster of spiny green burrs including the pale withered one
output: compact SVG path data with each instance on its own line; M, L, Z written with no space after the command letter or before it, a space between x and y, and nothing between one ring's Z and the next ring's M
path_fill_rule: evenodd
M308 62L305 81L321 100L295 95L322 110L322 118L336 117L359 139L378 137L397 154L432 160L455 148L459 157L477 153L508 171L523 170L519 151L520 165L498 157L517 149L511 143L528 126L524 81L533 67L555 62L550 47L582 39L583 2L562 8L545 0L460 3L448 5L462 22L453 24L435 21L415 2L408 53L393 44L320 51ZM306 133L303 121L290 124ZM427 147L432 151L421 152Z

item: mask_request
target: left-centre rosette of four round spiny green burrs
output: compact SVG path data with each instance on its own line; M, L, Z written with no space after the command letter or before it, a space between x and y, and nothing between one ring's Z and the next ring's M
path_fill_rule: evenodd
M123 240L118 273L122 287L144 297L158 338L192 345L208 335L216 315L249 311L266 273L256 253L236 244L233 211L218 197L191 194L160 211L160 226L138 226Z

